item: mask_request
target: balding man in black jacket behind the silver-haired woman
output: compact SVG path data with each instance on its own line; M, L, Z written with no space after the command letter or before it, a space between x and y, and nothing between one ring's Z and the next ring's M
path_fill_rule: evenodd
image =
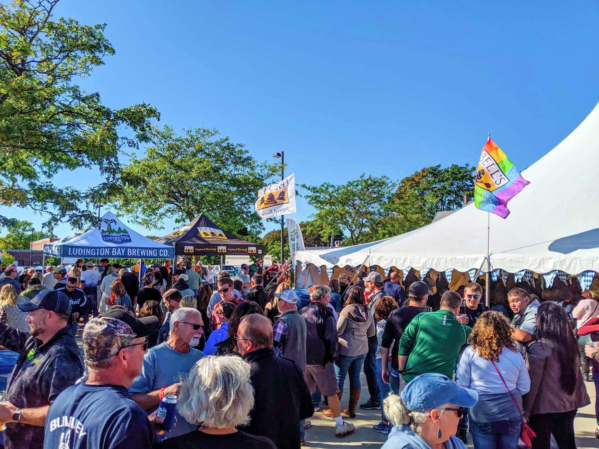
M297 449L299 421L314 414L301 370L292 360L274 353L273 327L264 315L246 315L235 339L241 355L252 365L250 380L254 387L252 419L241 429L267 436L279 449Z

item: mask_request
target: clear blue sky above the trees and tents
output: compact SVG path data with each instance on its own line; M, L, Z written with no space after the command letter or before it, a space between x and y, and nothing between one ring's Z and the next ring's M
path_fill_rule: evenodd
M107 23L116 55L81 82L105 104L150 102L162 123L218 128L259 160L285 150L298 183L474 164L487 132L524 169L599 101L591 0L63 0L55 11ZM76 172L59 182L97 180ZM300 198L297 218L311 212Z

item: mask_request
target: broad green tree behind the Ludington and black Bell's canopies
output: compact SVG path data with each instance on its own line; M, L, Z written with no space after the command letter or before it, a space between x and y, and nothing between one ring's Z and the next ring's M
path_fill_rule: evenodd
M216 129L153 128L141 159L122 169L114 198L119 209L144 226L161 227L165 216L187 223L204 213L237 236L257 235L262 220L254 210L256 192L279 166L257 162L242 144Z

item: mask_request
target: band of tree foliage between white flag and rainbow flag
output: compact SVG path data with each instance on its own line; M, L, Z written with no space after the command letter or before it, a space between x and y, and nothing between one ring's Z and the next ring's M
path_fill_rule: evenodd
M474 167L425 167L399 183L387 177L366 177L346 184L305 186L308 204L316 209L311 226L330 235L341 226L355 245L389 238L431 223L439 211L456 210L464 195L474 195Z

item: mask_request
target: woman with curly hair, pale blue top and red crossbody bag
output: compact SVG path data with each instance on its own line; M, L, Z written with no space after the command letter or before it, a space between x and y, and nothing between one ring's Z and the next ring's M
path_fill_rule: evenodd
M522 395L530 390L530 376L511 335L503 314L485 312L459 360L456 383L479 393L479 402L468 411L475 448L518 447Z

